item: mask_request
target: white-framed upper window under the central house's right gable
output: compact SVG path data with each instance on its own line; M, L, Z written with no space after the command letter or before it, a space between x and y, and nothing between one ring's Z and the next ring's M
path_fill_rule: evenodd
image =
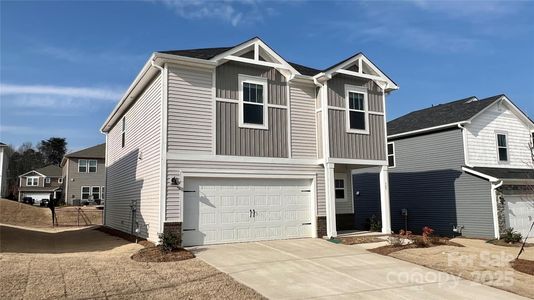
M347 132L369 133L367 92L354 86L345 86Z

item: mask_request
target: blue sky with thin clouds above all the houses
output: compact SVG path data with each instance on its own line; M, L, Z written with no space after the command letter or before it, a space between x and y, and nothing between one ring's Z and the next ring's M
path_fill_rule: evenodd
M534 116L528 1L0 2L0 140L104 141L99 128L153 51L260 36L324 68L363 51L400 90L388 119L468 96L507 94Z

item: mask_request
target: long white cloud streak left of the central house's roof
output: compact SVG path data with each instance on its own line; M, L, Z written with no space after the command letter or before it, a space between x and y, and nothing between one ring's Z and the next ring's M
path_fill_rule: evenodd
M94 99L118 101L123 92L118 89L95 87L69 87L55 85L18 85L0 84L0 96L6 95L41 95L41 96L68 96L72 99Z

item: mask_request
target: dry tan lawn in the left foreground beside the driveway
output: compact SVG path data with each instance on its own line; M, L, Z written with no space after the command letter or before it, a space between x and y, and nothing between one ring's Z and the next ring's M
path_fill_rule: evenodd
M0 226L0 299L260 299L199 259L139 263L95 228Z

